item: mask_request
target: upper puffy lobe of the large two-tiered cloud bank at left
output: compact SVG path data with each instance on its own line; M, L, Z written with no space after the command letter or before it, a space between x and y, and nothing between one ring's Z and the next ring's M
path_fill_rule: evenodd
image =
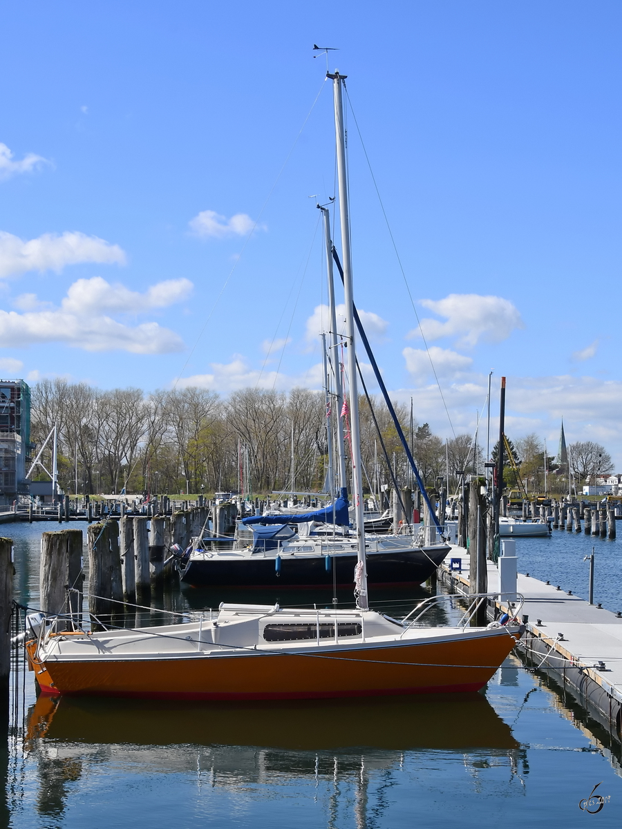
M70 313L143 313L152 308L167 308L182 302L190 295L193 287L189 279L167 279L152 285L145 293L139 293L94 276L91 279L78 279L72 284L61 306Z

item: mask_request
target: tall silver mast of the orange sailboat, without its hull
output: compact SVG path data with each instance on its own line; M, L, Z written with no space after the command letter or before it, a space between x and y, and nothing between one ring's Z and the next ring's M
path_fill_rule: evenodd
M343 256L343 290L346 300L347 373L350 381L350 419L352 437L352 500L357 521L357 568L355 584L357 606L369 607L367 597L367 564L365 560L365 526L362 501L361 429L358 420L357 354L354 343L354 312L352 297L352 255L350 251L350 215L347 208L346 132L343 123L342 84L346 75L335 70L333 98L335 105L335 135L337 138L337 171L339 178L339 217Z

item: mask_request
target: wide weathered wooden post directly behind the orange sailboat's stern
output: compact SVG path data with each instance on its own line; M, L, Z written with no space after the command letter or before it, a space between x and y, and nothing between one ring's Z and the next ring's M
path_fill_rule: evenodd
M41 565L39 594L41 609L46 613L82 612L82 545L81 530L59 530L41 534ZM70 593L69 590L80 593ZM66 630L68 623L59 623Z

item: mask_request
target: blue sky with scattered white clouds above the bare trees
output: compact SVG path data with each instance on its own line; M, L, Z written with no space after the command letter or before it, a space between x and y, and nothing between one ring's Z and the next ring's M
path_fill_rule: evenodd
M0 373L317 387L334 138L311 46L338 46L452 425L350 113L389 388L451 437L494 369L510 436L556 444L563 415L622 469L621 30L617 2L5 5Z

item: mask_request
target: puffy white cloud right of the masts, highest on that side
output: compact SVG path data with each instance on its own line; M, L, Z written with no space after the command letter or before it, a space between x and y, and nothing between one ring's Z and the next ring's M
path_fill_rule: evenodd
M501 342L515 328L525 327L518 308L502 297L450 293L445 299L422 299L421 304L439 317L445 317L445 322L430 318L421 320L426 340L457 337L455 345L458 348L473 347L479 340ZM413 329L408 337L420 337L419 328Z

